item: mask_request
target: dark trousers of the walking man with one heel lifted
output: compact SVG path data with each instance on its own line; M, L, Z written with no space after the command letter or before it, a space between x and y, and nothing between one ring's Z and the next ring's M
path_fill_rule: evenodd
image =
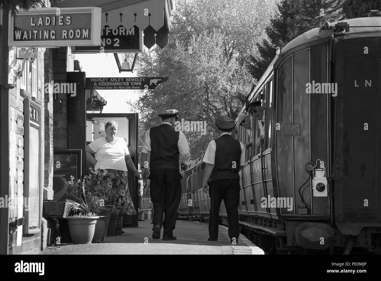
M149 179L149 194L154 209L152 223L163 227L163 236L171 236L181 198L181 174L179 169L155 169L150 171Z

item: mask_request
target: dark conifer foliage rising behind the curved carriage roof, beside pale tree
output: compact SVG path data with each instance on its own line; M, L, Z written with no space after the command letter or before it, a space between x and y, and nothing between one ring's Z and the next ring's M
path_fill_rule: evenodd
M266 26L267 38L257 47L259 56L251 55L247 67L255 79L274 59L277 47L282 48L312 26L322 26L323 22L334 22L342 18L344 0L282 0L277 4L277 12Z

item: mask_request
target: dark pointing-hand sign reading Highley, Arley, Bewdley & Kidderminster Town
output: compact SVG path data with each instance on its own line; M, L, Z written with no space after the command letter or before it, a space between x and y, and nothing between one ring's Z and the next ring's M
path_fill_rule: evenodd
M90 77L86 90L154 90L168 77Z

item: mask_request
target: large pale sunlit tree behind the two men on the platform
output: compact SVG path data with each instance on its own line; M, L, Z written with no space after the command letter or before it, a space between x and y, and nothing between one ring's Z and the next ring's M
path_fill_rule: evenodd
M179 121L206 121L205 135L184 132L192 159L201 156L217 136L216 117L235 119L250 92L245 61L256 53L252 48L263 38L274 8L274 0L178 1L168 45L139 56L138 76L169 77L132 104L145 130L160 124L158 114L165 109L178 109Z

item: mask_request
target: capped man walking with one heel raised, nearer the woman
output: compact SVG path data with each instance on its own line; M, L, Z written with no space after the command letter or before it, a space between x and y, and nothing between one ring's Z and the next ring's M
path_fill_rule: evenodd
M174 129L178 117L176 109L169 109L159 114L160 126L152 127L146 132L142 145L142 177L146 178L147 154L150 151L149 179L150 197L154 209L152 238L160 239L163 227L163 240L176 240L173 230L176 226L177 210L181 198L181 174L179 160L188 163L189 145L184 133ZM165 220L163 222L163 212Z

